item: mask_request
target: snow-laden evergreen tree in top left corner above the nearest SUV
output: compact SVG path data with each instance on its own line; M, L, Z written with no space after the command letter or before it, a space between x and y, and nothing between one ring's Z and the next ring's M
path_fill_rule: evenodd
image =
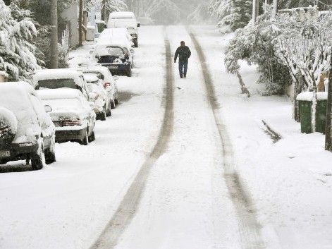
M40 68L33 44L37 30L19 8L15 11L22 15L21 20L13 18L11 8L0 0L0 71L6 71L9 80L30 81L32 73Z

